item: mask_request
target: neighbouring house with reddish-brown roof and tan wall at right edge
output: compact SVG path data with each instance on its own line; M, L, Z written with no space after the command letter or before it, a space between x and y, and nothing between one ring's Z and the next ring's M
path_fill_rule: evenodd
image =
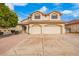
M79 33L79 19L69 21L65 24L66 31L69 33Z

